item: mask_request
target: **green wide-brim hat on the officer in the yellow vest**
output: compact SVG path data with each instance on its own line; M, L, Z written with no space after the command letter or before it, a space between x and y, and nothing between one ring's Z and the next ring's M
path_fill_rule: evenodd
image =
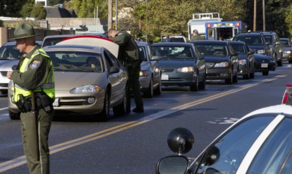
M33 36L40 36L40 35L36 35L35 30L33 29L33 26L31 26L30 24L21 23L14 30L14 38L8 39L8 40L29 38Z

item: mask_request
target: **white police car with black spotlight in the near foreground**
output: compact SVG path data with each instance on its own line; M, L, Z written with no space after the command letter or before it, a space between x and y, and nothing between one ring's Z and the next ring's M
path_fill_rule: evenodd
M189 152L194 136L176 128L168 136L169 149L176 153L162 157L157 174L290 174L292 171L292 107L276 105L256 110L231 125L197 158Z

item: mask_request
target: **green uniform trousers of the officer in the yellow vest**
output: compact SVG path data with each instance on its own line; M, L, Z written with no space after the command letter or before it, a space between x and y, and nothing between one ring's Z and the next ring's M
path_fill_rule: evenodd
M48 135L54 113L46 113L40 109L36 114L38 116L39 161L36 160L32 112L20 114L23 149L30 173L47 174L50 173Z

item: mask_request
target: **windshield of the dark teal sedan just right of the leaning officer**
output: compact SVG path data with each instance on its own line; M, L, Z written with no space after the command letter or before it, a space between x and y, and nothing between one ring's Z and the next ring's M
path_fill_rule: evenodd
M190 46L157 45L153 46L154 55L173 58L194 58Z

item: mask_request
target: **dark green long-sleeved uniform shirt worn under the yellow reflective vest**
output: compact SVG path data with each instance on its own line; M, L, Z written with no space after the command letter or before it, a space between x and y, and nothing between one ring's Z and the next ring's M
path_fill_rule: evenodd
M30 64L27 68L27 71L24 73L21 73L19 71L20 65L23 63L23 60L25 58L30 58L33 53L39 49L39 44L36 44L36 46L28 53L21 56L20 61L16 67L16 69L12 72L12 80L14 83L16 83L19 86L25 87L27 89L36 89L39 86L43 85L46 82L46 78L48 76L48 73L51 70L50 65L50 59L43 56L43 55L36 55L31 62L34 60L39 61L39 65L36 68L31 68Z

